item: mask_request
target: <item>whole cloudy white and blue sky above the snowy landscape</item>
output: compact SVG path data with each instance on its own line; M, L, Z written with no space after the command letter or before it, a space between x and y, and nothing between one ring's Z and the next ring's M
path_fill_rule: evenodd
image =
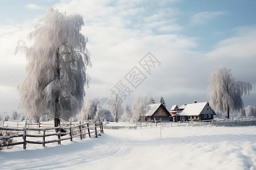
M137 94L156 102L162 95L168 110L209 101L209 75L224 65L237 80L251 83L242 99L244 107L256 106L255 1L11 0L0 6L0 113L17 109L17 86L26 77L24 54L14 56L17 42L53 6L84 17L82 33L92 55L86 99L109 97L121 80L132 91L130 104ZM148 52L160 63L150 72L139 65ZM137 88L126 79L135 66L145 78Z

